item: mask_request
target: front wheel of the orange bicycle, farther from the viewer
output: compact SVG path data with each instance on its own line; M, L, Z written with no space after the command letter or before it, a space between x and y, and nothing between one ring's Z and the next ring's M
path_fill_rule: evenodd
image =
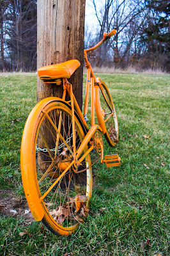
M119 136L118 118L111 93L103 81L95 85L95 109L107 142L115 146Z

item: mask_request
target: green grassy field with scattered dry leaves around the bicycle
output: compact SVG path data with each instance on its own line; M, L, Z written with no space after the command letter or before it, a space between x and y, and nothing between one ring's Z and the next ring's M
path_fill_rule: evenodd
M170 76L98 76L109 87L120 127L120 142L115 148L104 142L105 154L118 152L121 166L93 167L88 219L73 236L54 236L26 214L0 207L0 255L170 255ZM0 74L0 95L0 200L7 198L11 209L14 202L26 207L20 141L36 104L36 76Z

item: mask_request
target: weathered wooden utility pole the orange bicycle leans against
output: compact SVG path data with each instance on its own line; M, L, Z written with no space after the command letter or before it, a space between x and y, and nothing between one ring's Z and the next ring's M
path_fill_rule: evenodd
M73 93L82 107L84 17L86 0L37 1L37 68L77 59L81 62L70 78ZM61 97L62 86L43 84L38 78L37 100Z

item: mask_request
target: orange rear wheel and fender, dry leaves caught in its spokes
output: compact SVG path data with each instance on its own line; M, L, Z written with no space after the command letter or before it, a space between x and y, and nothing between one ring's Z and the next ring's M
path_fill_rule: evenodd
M38 211L42 211L42 221L47 228L66 236L74 232L88 215L92 190L91 159L88 154L78 167L78 173L75 172L72 164L72 111L66 102L47 100L43 105L38 103L33 111L22 137L24 191L33 216L40 216ZM81 145L84 133L81 120L75 113L75 150ZM87 150L88 146L84 153ZM79 172L81 170L84 171ZM39 200L39 209L36 209L35 199Z

